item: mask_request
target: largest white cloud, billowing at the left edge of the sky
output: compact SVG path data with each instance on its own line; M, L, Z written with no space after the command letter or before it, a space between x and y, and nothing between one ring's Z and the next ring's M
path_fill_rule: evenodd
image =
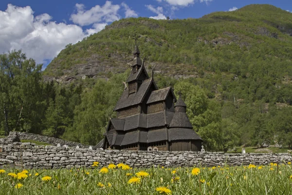
M69 43L76 43L87 35L77 25L51 21L42 14L34 17L30 6L8 4L0 11L0 53L22 49L27 57L42 63L53 59Z

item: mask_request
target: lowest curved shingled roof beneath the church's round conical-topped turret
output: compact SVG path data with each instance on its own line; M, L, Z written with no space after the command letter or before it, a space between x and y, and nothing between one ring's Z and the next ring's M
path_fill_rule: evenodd
M192 129L170 128L168 129L168 140L190 140L201 139L201 137ZM202 140L202 139L201 139Z

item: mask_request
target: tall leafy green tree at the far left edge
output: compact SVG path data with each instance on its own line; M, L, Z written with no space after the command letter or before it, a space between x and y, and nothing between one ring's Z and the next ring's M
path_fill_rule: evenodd
M0 55L0 110L5 135L11 130L37 130L41 107L41 67L21 51Z

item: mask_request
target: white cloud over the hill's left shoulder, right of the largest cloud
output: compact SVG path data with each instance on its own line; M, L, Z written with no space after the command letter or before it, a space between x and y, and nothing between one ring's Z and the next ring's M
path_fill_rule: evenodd
M113 5L110 1L106 1L103 6L95 5L90 10L85 10L83 4L77 3L75 7L77 13L72 14L70 20L81 26L99 23L101 21L112 22L120 19L118 14L120 5Z

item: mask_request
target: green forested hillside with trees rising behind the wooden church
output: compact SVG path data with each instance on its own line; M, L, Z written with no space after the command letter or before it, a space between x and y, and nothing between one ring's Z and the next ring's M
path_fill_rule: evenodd
M146 69L156 66L157 85L182 91L187 114L207 150L275 142L291 147L292 14L271 5L200 19L115 21L67 45L45 72L32 71L29 89L35 91L29 96L0 88L0 110L6 109L6 114L0 112L0 132L96 144L115 115L112 109L129 74L135 38ZM1 60L9 66L13 55ZM7 68L1 71L2 82ZM21 83L6 79L10 89Z

